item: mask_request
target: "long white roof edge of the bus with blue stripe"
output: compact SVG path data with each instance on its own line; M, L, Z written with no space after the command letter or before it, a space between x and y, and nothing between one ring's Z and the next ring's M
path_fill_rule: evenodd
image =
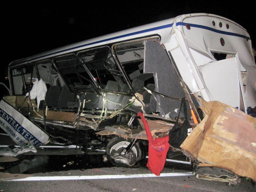
M221 16L217 16L214 14L205 14L205 13L197 13L197 14L186 14L186 15L180 15L177 16L176 18L184 18L186 16L212 16L212 17L218 17L222 18L225 20L228 20L227 18L223 18ZM19 60L15 60L9 64L9 66L15 66L19 64L26 64L38 60L43 60L47 58L51 58L54 56L59 56L62 54L74 52L74 51L79 51L79 50L84 50L86 48L92 48L96 46L103 46L106 44L111 44L115 42L122 42L125 40L130 40L130 39L136 39L136 38L141 38L141 37L146 37L146 36L152 36L152 35L158 35L161 38L161 44L164 43L168 38L170 37L170 30L174 24L174 20L176 18L170 18L150 24L145 24L142 26L130 28L127 30L122 30L119 32L114 32L111 34L106 34L100 37L96 38L91 38L89 40L84 40L81 42L77 42L74 44L62 46L60 48L56 48L53 50L49 50L46 52L42 52L40 54L36 54L33 56L29 56L27 58L22 58ZM231 20L228 20L230 22L233 22ZM233 22L235 23L235 22ZM236 24L236 23L235 23ZM238 25L238 24L236 24ZM238 25L240 26L240 25ZM240 26L242 28L242 26ZM245 30L244 28L242 28Z

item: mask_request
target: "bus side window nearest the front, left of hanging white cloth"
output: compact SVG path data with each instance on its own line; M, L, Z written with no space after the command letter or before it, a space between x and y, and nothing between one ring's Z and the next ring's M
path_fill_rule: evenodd
M12 69L12 84L15 95L25 95L38 79L34 64Z

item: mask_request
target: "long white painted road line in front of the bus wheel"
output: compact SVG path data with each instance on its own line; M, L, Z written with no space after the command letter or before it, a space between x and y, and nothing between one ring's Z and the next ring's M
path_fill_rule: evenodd
M127 174L127 175L92 175L92 176L46 176L27 177L7 181L50 181L50 180L89 180L89 179L123 179L123 178L145 178L145 177L176 177L190 176L192 172L161 173L160 176L154 174Z

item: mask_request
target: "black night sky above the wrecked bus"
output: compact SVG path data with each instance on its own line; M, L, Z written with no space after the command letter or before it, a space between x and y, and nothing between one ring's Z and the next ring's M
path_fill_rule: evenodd
M85 2L85 3L82 3ZM168 3L167 3L168 2ZM6 3L2 6L2 62L0 81L13 60L120 30L172 18L180 14L211 13L242 25L255 36L255 6L249 1L116 1L88 3ZM0 87L1 90L3 87Z

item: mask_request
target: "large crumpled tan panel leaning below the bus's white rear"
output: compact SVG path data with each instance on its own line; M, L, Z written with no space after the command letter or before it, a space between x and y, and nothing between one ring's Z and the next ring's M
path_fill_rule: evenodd
M202 163L256 180L256 118L201 100L206 116L180 146Z

